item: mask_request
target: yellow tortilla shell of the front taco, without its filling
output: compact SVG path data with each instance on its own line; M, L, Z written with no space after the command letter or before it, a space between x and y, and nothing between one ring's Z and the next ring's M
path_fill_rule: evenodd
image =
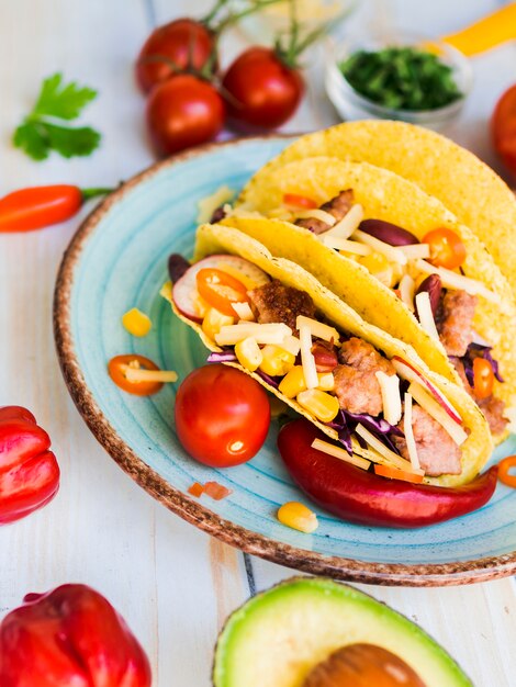
M271 278L280 280L285 285L305 291L312 296L317 311L319 311L328 322L337 328L349 331L350 334L369 341L378 350L383 351L388 358L400 356L412 367L418 370L427 380L435 384L435 386L437 386L437 388L439 388L439 391L450 401L450 403L460 412L464 427L470 432L468 439L461 447L462 473L460 475L425 477L425 482L441 486L457 486L470 482L479 473L489 459L493 444L484 417L462 387L459 387L445 378L431 372L416 354L413 348L394 339L382 329L367 324L351 307L343 303L340 299L325 289L315 279L315 277L303 270L303 268L299 264L283 258L273 258L265 246L237 229L221 225L202 225L199 227L197 233L194 261L201 260L206 256L217 254L231 254L245 258L246 260L249 260L249 262L253 262L262 269ZM206 348L211 351L222 350L215 341L205 336L199 324L192 322L188 317L184 317L177 311L173 302L171 301L170 284L164 288L161 295L170 301L176 315L199 334ZM288 404L291 408L314 423L328 437L335 440L338 439L337 432L334 429L313 418L295 402L295 399L287 398L278 390L268 385L256 373L248 372L237 363L224 364L231 364L234 368L243 370L272 392L281 401ZM438 450L438 447L436 447L436 450ZM362 449L358 441L355 440L354 451L359 455L370 458L370 451Z

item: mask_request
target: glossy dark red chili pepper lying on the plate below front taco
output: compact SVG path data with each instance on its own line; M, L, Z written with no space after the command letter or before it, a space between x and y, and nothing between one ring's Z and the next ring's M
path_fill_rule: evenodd
M326 440L307 420L294 420L280 430L278 448L303 492L349 522L400 528L435 525L476 510L496 487L496 465L452 488L386 480L313 449L317 437Z

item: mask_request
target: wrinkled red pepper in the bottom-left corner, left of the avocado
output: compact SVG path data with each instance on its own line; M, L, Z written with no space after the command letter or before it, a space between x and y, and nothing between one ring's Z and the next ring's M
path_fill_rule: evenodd
M111 604L86 585L27 594L0 624L0 685L150 687L150 666Z

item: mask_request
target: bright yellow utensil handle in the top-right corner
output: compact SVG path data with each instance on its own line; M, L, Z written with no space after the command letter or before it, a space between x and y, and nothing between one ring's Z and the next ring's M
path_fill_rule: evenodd
M516 2L496 10L480 21L441 38L467 57L479 55L516 38Z

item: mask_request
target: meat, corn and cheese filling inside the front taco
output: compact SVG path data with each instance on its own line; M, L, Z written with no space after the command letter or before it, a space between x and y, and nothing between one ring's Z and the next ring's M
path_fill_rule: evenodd
M367 451L400 478L461 474L468 431L455 407L401 357L333 326L305 291L244 258L215 255L188 268L170 295L218 348L209 361L258 375L335 429L349 454Z

